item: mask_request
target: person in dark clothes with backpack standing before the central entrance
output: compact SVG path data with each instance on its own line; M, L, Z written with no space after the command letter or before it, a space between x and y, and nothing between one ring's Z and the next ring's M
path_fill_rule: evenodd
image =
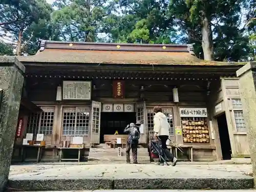
M132 149L133 153L133 163L137 164L137 148L140 138L140 130L139 130L140 124L134 124L130 123L130 125L127 125L123 131L123 133L129 134L128 140L126 144L126 162L131 163L130 160L130 151Z

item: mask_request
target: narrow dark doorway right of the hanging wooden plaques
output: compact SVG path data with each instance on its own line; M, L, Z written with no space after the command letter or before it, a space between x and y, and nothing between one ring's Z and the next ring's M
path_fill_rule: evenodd
M223 160L231 159L231 144L227 128L227 120L225 113L217 118L219 126L219 135L221 142L221 151Z

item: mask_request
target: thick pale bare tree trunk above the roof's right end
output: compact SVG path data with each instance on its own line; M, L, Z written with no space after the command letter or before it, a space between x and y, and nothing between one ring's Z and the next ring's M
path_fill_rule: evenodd
M204 52L204 60L214 60L214 43L212 40L210 20L205 17L202 24L202 48Z

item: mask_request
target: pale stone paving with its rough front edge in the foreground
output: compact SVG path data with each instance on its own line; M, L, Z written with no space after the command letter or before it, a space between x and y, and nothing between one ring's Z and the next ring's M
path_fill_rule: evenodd
M96 189L248 189L251 165L90 164L12 165L9 188L38 190Z

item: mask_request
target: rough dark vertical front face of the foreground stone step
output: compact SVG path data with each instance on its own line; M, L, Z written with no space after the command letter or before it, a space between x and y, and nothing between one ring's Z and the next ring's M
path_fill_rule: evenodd
M56 179L9 180L11 191L96 190L96 189L250 189L252 178L236 179Z

